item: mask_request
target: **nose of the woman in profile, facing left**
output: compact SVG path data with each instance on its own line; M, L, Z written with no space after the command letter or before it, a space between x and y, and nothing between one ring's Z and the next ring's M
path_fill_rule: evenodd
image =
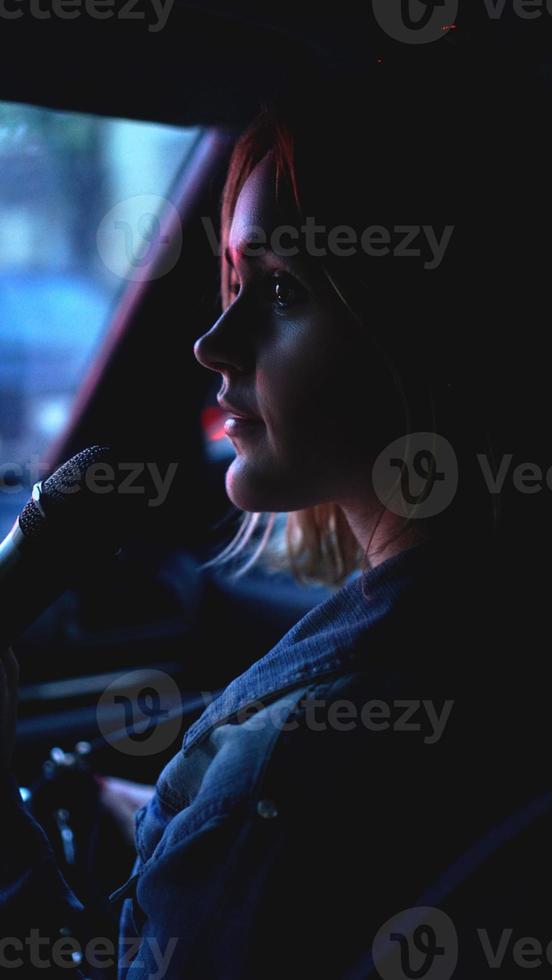
M194 355L210 371L250 370L254 352L239 310L239 299L228 306L207 333L198 337Z

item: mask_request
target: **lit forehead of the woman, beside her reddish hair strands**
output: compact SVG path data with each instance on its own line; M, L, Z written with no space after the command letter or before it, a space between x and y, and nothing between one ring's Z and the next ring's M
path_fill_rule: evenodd
M259 229L270 237L275 228L286 223L297 224L297 216L286 197L285 182L280 182L276 200L276 164L269 152L256 164L240 191L228 236L229 248L232 252L239 249Z

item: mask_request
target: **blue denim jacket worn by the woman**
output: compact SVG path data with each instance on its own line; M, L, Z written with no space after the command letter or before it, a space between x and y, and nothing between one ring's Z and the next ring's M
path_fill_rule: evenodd
M477 922L490 907L499 923L518 883L479 877L470 891L470 874L508 840L497 831L506 818L517 840L550 801L540 784L503 773L504 730L481 671L474 684L467 566L452 557L425 543L349 581L187 730L136 815L133 872L111 896L120 980L422 976L427 936L450 939L460 926L465 975L485 966ZM67 924L78 934L86 909L13 780L6 789L10 935ZM385 924L426 907L445 924L388 930L386 973L374 953ZM418 936L412 961L401 934ZM85 978L86 961L80 970Z

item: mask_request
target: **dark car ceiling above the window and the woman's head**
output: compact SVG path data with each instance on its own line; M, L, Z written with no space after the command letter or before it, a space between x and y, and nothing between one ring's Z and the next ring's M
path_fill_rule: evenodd
M44 12L52 0L35 3ZM331 14L287 0L260 6L175 0L155 31L153 0L116 0L106 20L85 14L85 0L73 20L37 19L29 2L9 0L4 7L21 16L0 20L0 99L180 125L240 125L260 99L312 81L320 68L361 78L383 70L410 83L427 70L439 78L450 63L469 78L478 62L493 84L503 61L509 75L549 78L552 17L544 3L538 20L524 20L510 3L497 19L488 9L500 3L459 0L455 29L424 45L389 38L369 2L342 3ZM123 19L125 8L134 19Z

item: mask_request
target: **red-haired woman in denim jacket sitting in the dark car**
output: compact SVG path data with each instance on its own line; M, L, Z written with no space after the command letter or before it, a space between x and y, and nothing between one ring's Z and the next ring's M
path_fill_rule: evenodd
M449 82L431 104L385 76L369 104L318 83L235 148L223 312L194 346L221 376L226 488L246 514L221 560L268 515L261 560L286 513L291 568L335 592L209 705L138 810L133 874L112 896L120 978L471 976L488 966L481 934L494 948L513 910L536 935L508 843L533 800L546 809L547 780L531 720L511 723L504 632L519 653L527 621L501 623L512 597L526 609L512 576L537 512L505 479L496 490L526 430L521 399L508 428L512 351L485 309L504 277L513 302L505 270L524 270L504 235L516 160L492 100L465 105ZM492 187L481 159L503 168ZM4 875L8 921L28 903L29 925L90 936L9 779L24 848Z

